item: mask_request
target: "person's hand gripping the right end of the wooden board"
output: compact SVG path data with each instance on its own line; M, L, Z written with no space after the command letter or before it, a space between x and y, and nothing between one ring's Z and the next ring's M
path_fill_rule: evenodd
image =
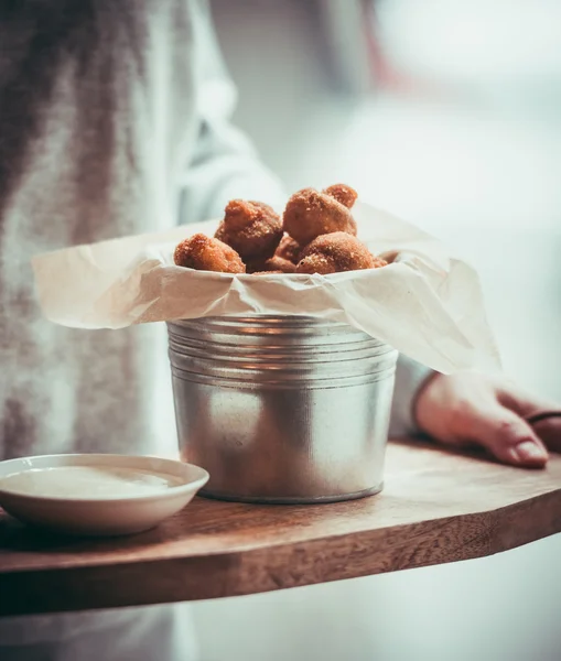
M525 419L561 407L506 379L436 375L420 391L414 416L422 432L447 445L481 445L505 464L541 468L548 448L561 452L561 418Z

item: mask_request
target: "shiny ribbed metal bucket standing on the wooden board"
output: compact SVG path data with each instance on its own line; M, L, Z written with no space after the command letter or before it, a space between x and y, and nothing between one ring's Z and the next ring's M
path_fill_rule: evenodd
M395 349L299 316L168 330L182 457L211 474L202 495L304 503L381 489Z

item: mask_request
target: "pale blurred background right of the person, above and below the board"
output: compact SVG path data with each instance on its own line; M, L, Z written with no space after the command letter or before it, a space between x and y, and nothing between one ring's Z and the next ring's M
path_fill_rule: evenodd
M236 123L289 191L346 182L482 277L505 369L561 401L561 2L213 0ZM559 661L561 535L195 606L205 661Z

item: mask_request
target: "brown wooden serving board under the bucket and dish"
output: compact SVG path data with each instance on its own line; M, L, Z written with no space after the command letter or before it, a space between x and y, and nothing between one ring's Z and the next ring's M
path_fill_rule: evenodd
M561 457L544 470L393 442L363 500L196 499L129 538L40 533L0 510L0 615L247 595L506 551L561 531Z

